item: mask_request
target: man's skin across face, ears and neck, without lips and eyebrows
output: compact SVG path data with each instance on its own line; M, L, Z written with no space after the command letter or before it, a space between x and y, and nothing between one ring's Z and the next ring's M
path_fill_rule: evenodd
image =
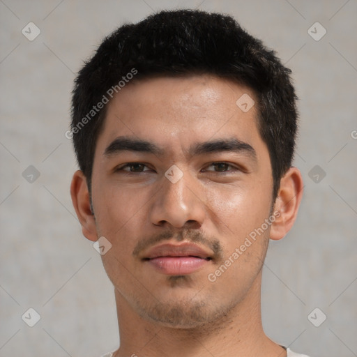
M283 238L294 224L303 181L291 167L273 201L256 107L243 112L236 105L244 93L255 98L250 89L211 75L132 82L109 102L96 143L94 215L84 174L73 176L71 195L84 236L105 236L112 244L102 262L116 296L116 357L287 356L261 325L261 267L269 238ZM105 155L123 136L145 139L162 155ZM245 150L189 153L197 142L232 138L252 146L255 157ZM124 166L130 162L137 165ZM227 165L212 165L220 162ZM165 176L172 165L183 173L176 183ZM268 229L214 282L208 280L273 212L278 217ZM158 243L182 241L197 242L213 259L176 277L141 259Z

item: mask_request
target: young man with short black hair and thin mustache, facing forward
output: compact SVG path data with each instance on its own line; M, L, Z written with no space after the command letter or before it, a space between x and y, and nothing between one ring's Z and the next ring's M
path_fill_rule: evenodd
M114 284L107 356L303 356L260 310L269 238L303 192L289 73L231 17L194 10L121 26L80 70L71 195Z

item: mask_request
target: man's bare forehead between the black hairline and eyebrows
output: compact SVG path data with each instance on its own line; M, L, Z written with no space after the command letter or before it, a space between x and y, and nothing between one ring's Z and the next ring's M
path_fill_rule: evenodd
M135 79L109 102L98 146L120 135L167 149L232 135L254 142L260 137L254 103L252 90L212 75Z

